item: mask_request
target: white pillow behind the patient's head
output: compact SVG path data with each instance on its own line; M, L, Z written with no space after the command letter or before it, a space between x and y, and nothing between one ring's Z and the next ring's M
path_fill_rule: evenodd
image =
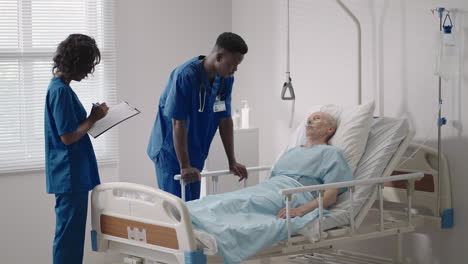
M304 121L296 128L296 131L290 138L287 149L306 143L305 124L310 114L315 112L329 113L337 122L336 133L330 139L330 144L343 150L349 167L354 173L366 149L374 108L373 101L354 107L341 107L337 105L314 106L308 111Z

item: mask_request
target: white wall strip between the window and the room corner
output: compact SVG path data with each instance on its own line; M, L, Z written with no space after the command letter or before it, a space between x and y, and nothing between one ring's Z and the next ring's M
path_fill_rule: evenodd
M142 111L120 126L119 175L156 187L146 146L159 96L175 67L208 54L230 31L231 1L118 0L116 15L118 98Z

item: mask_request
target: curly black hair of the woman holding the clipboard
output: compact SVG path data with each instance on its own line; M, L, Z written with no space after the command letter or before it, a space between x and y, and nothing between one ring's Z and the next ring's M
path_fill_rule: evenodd
M83 34L71 34L62 41L54 55L52 74L60 72L70 78L94 72L101 62L101 53L96 41Z

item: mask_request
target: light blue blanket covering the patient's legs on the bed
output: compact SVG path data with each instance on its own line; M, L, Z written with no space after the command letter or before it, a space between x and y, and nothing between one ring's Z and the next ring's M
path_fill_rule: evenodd
M286 207L279 190L296 187L302 185L279 175L256 186L188 202L187 206L194 228L215 237L224 262L240 263L288 237L286 219L276 218ZM298 207L312 199L310 193L295 194L292 206ZM299 231L317 217L318 210L314 210L303 217L292 218L292 232Z

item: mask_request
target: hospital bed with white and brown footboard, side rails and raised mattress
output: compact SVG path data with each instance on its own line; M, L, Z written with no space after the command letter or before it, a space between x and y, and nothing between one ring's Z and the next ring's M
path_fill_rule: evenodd
M392 175L397 174L393 172L410 146L413 134L405 120L387 117L374 119L365 153L354 174L355 180L282 190L281 194L287 200L293 193L318 191L320 217L298 234L288 230L287 240L259 252L254 258L309 253L310 258L320 258L326 254L327 258L336 258L333 263L347 263L339 260L349 259L350 255L330 250L336 243L398 235L400 245L397 259L362 254L354 255L353 259L362 260L354 263L369 263L371 260L374 261L371 263L402 263L401 234L414 231L426 220L434 222L434 219L440 219L439 212L450 207L449 184L443 188L437 187L440 191L432 193L431 198L427 199L421 198L425 196L421 196L420 190L415 191L415 185L419 184L417 181L425 177L429 169L418 172L423 167L412 171L410 166L427 165L426 154L406 157L408 160L398 170L399 175ZM428 153L427 149L423 150L426 150L423 153ZM269 167L250 168L251 172L261 170L269 170ZM203 177L217 182L226 177L224 174L226 172L210 172L204 173ZM447 179L441 182L447 183ZM326 189L340 187L349 188L338 197L336 205L329 209L325 217L322 194ZM400 211L384 210L385 199L405 205ZM413 206L425 206L433 214L415 214ZM207 255L217 253L215 239L192 227L184 201L164 191L132 183L105 183L93 190L91 207L94 251L112 250L138 256L145 259L145 263L205 263ZM370 211L377 212L378 220L364 225L363 220ZM324 249L327 249L327 253L324 253ZM316 252L315 255L313 252Z

